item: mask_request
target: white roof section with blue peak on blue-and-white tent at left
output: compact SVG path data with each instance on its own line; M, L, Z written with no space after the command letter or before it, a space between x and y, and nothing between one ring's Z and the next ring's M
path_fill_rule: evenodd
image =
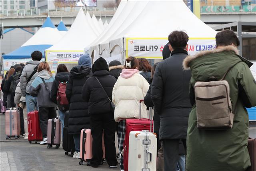
M50 17L46 18L46 21L42 27L22 46L30 45L53 45L56 44L62 35L59 30L52 24Z

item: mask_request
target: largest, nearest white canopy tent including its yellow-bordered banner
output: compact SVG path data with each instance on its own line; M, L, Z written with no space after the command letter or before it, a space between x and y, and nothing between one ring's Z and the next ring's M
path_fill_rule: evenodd
M145 0L136 1L135 5L132 2L124 7L130 9L126 18L122 13L124 22L118 28L110 27L108 30L114 31L102 36L99 54L103 58L121 62L128 56L162 59L162 49L174 30L187 32L189 54L215 48L216 31L198 19L182 0ZM176 15L180 12L182 15Z

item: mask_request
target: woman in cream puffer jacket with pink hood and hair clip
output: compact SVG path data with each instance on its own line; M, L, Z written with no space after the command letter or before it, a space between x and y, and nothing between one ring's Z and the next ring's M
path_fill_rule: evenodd
M125 61L124 69L118 77L112 92L112 101L116 105L114 118L119 122L118 142L119 151L123 150L125 138L126 119L137 119L139 113L139 102L144 99L149 84L145 78L139 74L139 62L134 57L129 57ZM142 103L141 117L146 118L146 106ZM124 171L124 158L120 159L121 171Z

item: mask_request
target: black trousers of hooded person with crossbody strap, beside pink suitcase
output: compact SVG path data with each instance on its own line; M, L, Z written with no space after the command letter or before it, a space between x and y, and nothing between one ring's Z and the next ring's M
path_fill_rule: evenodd
M102 132L104 132L105 157L109 166L116 166L115 132L116 122L112 113L104 115L90 115L92 133L92 165L99 165L102 161ZM104 130L104 131L103 131Z

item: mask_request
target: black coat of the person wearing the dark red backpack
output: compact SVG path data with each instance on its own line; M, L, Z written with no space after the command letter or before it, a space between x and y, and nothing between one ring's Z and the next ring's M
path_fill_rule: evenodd
M68 76L69 76L68 72L59 72L55 76L50 95L51 95L52 101L56 104L57 104L56 98L57 98L57 91L58 91L59 84L60 82L64 82L64 83L67 82Z

